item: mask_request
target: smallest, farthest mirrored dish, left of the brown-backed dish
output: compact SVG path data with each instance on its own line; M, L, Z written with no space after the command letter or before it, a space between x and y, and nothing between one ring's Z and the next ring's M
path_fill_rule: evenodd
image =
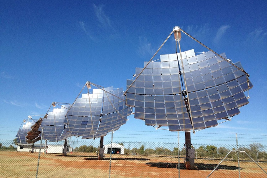
M27 144L26 142L26 136L27 133L31 130L31 126L35 123L34 120L26 121L24 120L23 123L20 126L20 129L16 135L17 142L21 144Z

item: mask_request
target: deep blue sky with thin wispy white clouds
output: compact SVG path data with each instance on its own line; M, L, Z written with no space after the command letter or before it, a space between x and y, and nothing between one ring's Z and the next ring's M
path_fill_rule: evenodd
M0 0L0 139L14 139L28 115L45 114L52 102L74 102L86 81L125 90L135 67L143 67L173 27L180 26L217 53L240 61L254 85L239 115L197 132L192 141L211 133L238 133L262 135L266 144L266 9L264 0ZM183 34L181 46L207 51ZM158 54L171 53L173 37ZM125 133L134 130L140 133L135 140L151 133L155 141L177 139L177 132L156 131L133 116L120 130L117 140L129 140Z

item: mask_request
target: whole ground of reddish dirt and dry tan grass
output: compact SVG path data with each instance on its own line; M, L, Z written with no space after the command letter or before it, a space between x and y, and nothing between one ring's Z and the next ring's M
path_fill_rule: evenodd
M41 154L38 168L38 177L109 177L110 155L104 160L96 160L95 154L72 153L66 157L59 154ZM28 152L0 152L0 177L36 177L38 153ZM183 159L180 159L180 177L207 177L220 160L195 159L196 170L184 169ZM267 163L260 163L266 170ZM241 177L267 177L253 162L240 162ZM178 177L178 158L144 155L117 155L112 154L111 178L154 178ZM239 177L238 163L224 161L210 176Z

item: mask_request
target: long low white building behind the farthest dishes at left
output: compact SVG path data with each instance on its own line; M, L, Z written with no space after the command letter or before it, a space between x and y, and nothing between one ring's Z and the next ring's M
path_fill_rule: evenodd
M41 153L44 152L45 145L41 146ZM30 145L30 144L18 144L17 151L24 152L39 152L40 145ZM63 153L64 145L46 145L46 153ZM68 152L72 152L72 147L67 145Z

